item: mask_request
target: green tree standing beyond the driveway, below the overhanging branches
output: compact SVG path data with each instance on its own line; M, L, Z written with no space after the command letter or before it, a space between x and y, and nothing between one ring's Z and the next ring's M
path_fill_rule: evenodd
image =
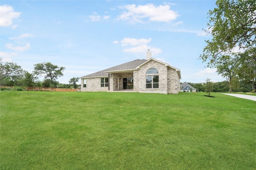
M223 55L217 62L217 72L229 81L230 92L238 86L237 71L240 64L238 61L238 57L236 56Z

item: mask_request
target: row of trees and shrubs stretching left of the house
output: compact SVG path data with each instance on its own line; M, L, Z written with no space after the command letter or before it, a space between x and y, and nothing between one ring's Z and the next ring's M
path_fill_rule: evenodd
M60 84L57 81L63 76L64 70L65 67L45 62L34 64L34 71L30 73L16 63L3 63L0 58L0 86L78 88L78 77L71 78L69 84ZM44 76L44 80L40 81L40 76Z

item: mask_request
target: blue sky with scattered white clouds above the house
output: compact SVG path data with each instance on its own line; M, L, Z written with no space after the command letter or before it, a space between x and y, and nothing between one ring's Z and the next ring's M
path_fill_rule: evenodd
M34 64L63 66L60 83L152 57L181 70L180 82L225 80L199 60L211 39L215 0L1 1L0 57L32 73ZM42 77L40 78L43 79Z

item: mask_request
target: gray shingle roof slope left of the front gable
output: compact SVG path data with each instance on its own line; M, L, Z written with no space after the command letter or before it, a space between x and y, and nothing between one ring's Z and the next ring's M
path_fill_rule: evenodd
M105 70L101 70L98 72L94 72L92 74L88 74L86 76L82 76L80 78L86 78L86 77L102 77L102 76L108 76L108 73L106 73L106 71L118 71L118 70L131 70L131 69L136 69L137 66L139 66L140 64L144 63L145 59L137 59L134 61L130 61L128 63L124 63L124 64L120 64L118 66L114 66L111 68L107 68Z

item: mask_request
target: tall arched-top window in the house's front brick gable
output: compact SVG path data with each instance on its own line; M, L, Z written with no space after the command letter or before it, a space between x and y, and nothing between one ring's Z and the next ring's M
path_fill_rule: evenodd
M159 75L156 68L149 68L146 71L146 88L158 88Z

